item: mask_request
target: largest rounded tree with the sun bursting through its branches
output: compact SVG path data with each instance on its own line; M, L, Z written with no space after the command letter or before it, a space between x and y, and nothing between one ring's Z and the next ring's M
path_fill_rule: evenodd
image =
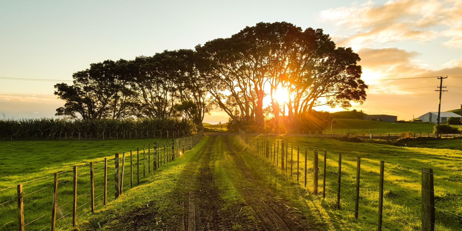
M336 48L322 29L258 23L196 50L210 63L204 76L213 103L237 123L261 126L268 93L276 122L283 103L289 125L316 106L349 108L366 98L359 55L351 48ZM288 102L275 98L280 89L288 91Z

